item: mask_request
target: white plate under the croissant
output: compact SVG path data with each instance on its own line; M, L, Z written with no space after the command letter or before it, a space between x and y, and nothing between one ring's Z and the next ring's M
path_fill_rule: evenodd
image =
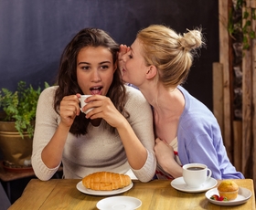
M91 189L86 188L86 187L82 184L81 181L77 184L77 189L78 189L81 193L84 193L84 194L93 194L93 195L121 194L121 193L123 193L123 192L126 192L126 191L130 190L132 187L133 187L133 183L131 183L130 185L125 186L125 187L123 187L123 188L121 188L121 189L118 189L118 190L100 191L100 190L91 190Z

